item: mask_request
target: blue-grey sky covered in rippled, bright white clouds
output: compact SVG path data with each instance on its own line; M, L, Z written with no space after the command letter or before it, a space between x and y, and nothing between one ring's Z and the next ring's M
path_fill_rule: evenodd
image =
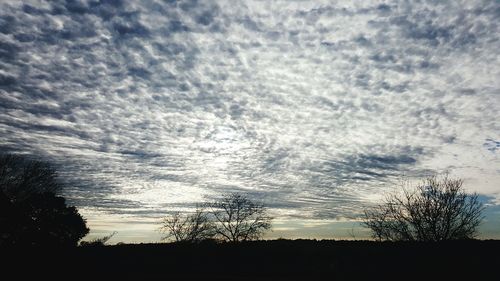
M2 1L0 149L56 165L91 236L232 192L267 237L367 237L448 173L500 238L498 1Z

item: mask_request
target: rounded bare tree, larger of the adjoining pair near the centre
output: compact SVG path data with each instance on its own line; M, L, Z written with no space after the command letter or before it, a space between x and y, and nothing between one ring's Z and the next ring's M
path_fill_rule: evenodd
M257 240L271 228L267 208L241 194L229 194L220 201L207 204L217 223L219 239L239 242Z

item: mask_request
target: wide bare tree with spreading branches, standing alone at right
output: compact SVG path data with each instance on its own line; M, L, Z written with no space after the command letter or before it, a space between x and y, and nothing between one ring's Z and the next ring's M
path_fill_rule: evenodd
M374 238L390 241L471 239L483 219L477 194L468 194L463 180L429 177L416 189L403 188L365 211L364 226Z

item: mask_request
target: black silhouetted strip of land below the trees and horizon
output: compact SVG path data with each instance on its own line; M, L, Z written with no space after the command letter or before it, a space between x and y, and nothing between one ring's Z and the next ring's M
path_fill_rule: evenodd
M0 255L2 274L14 277L2 280L500 280L500 240L132 244Z

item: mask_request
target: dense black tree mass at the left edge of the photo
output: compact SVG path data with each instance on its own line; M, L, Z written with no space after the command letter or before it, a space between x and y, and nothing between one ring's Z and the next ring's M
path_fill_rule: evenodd
M0 155L0 246L76 246L89 231L46 162Z

